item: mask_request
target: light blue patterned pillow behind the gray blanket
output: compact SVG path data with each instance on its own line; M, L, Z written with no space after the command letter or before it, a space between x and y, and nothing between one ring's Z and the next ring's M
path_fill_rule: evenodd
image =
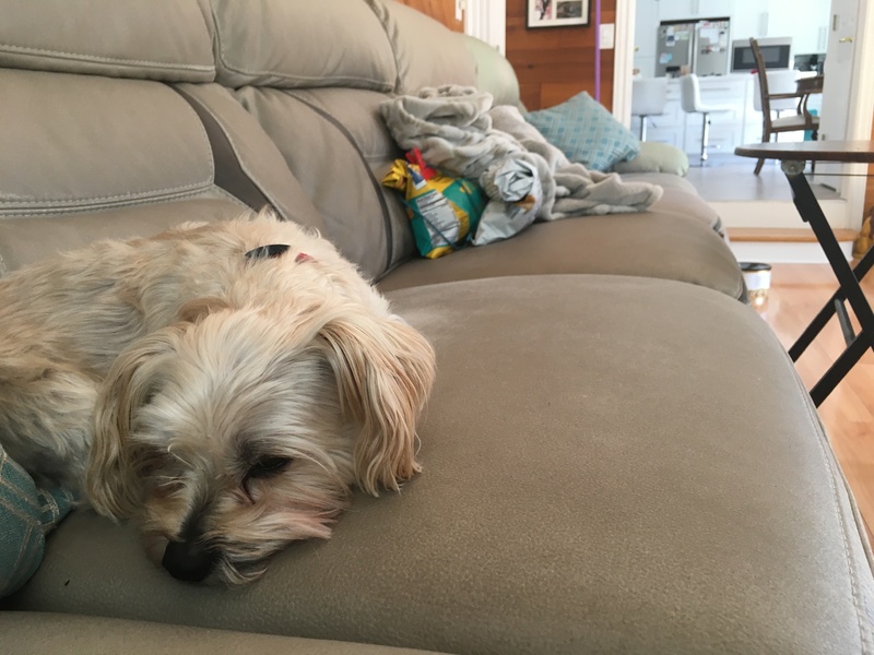
M592 170L612 170L640 152L637 136L584 91L555 107L531 111L525 120L568 159Z

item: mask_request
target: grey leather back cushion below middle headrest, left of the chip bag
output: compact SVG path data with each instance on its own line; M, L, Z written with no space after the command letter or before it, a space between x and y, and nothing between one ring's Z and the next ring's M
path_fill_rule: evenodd
M401 156L378 112L380 93L244 87L237 98L275 142L323 217L322 235L379 277L413 251L405 213L381 175ZM395 231L398 237L395 239Z

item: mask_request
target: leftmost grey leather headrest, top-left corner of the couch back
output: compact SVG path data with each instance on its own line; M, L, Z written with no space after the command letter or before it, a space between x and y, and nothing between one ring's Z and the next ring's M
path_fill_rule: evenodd
M0 66L177 82L215 76L204 0L3 0Z

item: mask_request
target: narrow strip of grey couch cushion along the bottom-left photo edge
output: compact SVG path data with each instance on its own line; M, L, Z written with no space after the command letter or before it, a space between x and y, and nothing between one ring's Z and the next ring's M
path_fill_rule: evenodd
M8 652L16 655L427 655L370 644L43 612L0 612L0 633Z

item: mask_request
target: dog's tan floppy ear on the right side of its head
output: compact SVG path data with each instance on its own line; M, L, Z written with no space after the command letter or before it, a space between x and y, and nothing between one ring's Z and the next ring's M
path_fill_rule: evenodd
M430 393L434 349L395 318L358 313L328 322L319 340L333 368L340 403L362 426L355 443L358 486L377 496L420 471L416 420Z

